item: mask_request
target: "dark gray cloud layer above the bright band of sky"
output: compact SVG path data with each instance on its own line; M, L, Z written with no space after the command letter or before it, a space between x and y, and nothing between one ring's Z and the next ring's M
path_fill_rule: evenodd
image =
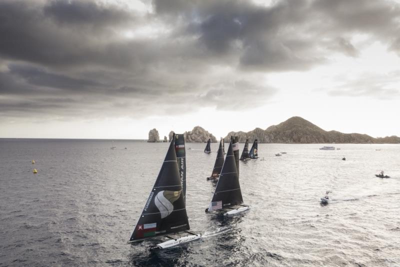
M0 115L142 116L203 106L251 108L276 92L258 83L262 73L307 70L332 53L356 57L354 33L400 54L400 7L392 1L280 0L260 6L247 0L155 0L151 5L144 13L94 0L0 1ZM153 31L140 33L145 28ZM250 103L239 95L257 97Z

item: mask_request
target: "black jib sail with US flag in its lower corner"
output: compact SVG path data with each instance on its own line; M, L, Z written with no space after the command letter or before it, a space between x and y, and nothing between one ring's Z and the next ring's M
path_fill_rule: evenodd
M212 200L205 212L243 203L231 138Z

